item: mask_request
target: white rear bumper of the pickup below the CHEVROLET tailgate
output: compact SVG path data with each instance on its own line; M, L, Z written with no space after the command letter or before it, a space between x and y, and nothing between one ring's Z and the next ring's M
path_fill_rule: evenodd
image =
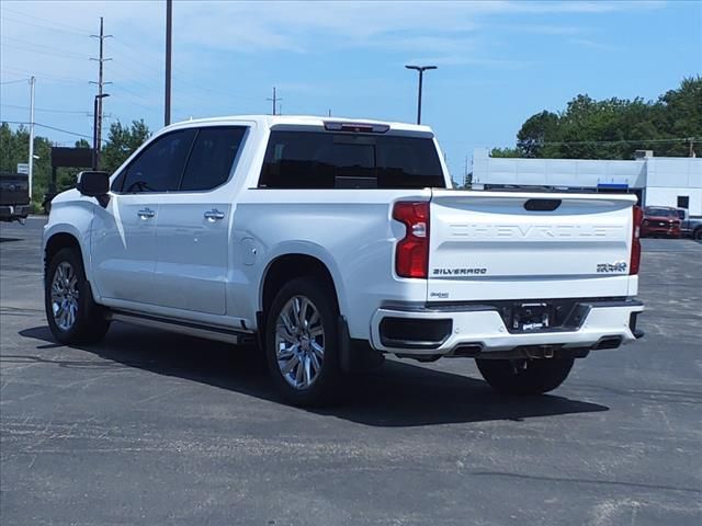
M521 348L614 348L643 335L637 300L582 301L577 328L509 332L495 307L381 308L371 321L371 345L404 356L486 356ZM388 321L390 320L390 321ZM432 323L433 321L433 323ZM401 338L403 323L406 336Z

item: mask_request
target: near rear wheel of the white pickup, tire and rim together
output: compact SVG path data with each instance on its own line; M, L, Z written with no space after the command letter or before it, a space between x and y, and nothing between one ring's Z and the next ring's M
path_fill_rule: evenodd
M338 401L343 379L338 317L333 294L312 278L291 281L273 299L267 313L265 355L273 384L288 403Z

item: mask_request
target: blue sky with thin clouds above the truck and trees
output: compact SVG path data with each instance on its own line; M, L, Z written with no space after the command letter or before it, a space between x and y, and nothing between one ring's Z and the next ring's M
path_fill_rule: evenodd
M92 134L99 18L105 113L163 123L165 1L0 3L0 113ZM702 73L702 2L189 2L173 8L173 121L269 113L414 122L417 77L433 64L422 122L455 180L475 147L513 146L525 118L578 93L655 99ZM19 82L14 82L19 81ZM21 107L15 107L21 106ZM76 136L37 128L61 145ZM106 134L105 134L106 136Z

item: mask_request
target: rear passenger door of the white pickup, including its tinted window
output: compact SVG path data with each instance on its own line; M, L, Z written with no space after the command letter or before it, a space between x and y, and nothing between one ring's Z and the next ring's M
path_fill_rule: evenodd
M179 190L163 196L152 287L159 305L225 315L231 243L231 181L246 126L197 132Z

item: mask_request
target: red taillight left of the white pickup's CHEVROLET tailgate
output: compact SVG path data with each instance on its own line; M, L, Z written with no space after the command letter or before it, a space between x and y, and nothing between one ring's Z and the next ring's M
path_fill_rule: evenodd
M405 225L395 250L395 272L401 277L427 278L429 267L429 203L398 202L393 219Z

